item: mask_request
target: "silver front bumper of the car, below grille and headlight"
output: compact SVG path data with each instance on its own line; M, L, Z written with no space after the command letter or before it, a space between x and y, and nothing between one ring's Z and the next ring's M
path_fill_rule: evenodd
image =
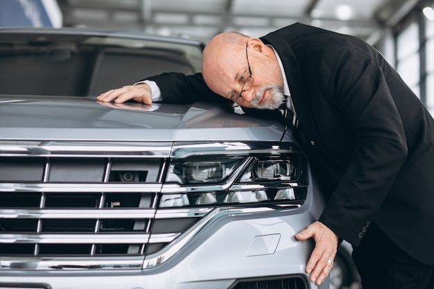
M234 288L240 280L270 277L301 278L304 288L318 288L304 273L313 243L295 239L313 221L306 205L220 211L173 256L158 260L159 265L150 266L155 259L145 260L142 270L116 270L116 264L110 270L34 270L21 260L21 266L11 263L0 269L0 288L221 289ZM320 288L329 288L328 280Z

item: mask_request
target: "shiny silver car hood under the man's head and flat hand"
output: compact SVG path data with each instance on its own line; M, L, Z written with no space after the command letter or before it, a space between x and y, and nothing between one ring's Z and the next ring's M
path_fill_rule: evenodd
M115 105L94 98L0 96L3 140L279 141L283 133L273 121L216 103Z

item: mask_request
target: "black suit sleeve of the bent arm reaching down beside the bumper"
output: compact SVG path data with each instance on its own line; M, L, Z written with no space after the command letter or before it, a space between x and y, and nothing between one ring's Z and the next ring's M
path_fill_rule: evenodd
M406 161L406 135L379 55L332 51L317 63L315 78L356 143L320 221L358 245Z

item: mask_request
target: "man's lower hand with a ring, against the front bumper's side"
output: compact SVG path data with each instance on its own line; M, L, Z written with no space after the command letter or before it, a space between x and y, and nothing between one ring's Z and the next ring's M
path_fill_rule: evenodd
M314 222L295 235L297 240L315 240L315 249L306 265L306 273L311 274L311 281L320 285L333 267L333 260L338 252L338 236L322 222Z

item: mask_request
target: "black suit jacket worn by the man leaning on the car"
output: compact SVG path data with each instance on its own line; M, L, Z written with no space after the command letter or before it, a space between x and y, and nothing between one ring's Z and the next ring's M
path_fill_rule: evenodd
M410 256L434 264L434 121L424 105L356 37L293 24L261 40L279 53L302 146L326 193L320 221L353 245L374 221ZM152 79L167 102L226 101L200 73Z

